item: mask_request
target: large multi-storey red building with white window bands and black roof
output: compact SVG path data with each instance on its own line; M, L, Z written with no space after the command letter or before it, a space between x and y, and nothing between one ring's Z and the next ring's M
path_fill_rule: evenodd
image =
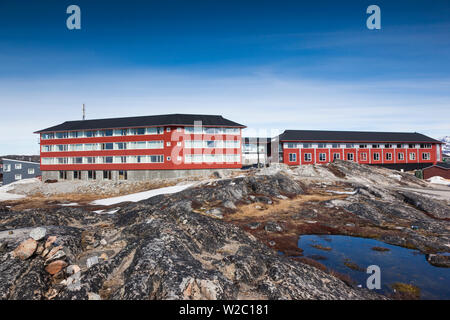
M143 180L242 167L245 126L216 115L68 121L39 130L48 179Z

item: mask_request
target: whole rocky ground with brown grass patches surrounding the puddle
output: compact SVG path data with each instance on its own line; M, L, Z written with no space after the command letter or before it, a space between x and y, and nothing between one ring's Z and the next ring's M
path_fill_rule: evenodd
M448 266L449 203L423 187L340 161L213 179L114 214L0 206L0 299L384 299L302 257L298 236L370 237Z

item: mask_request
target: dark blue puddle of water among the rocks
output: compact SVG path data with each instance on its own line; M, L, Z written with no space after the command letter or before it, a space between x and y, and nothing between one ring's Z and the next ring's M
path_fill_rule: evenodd
M313 247L316 245L316 247ZM317 246L319 245L319 246ZM318 248L331 247L330 251ZM299 237L298 247L305 257L322 256L319 262L349 275L357 284L366 288L370 276L365 270L369 265L381 269L381 293L390 293L394 282L413 284L420 288L421 299L450 299L450 268L430 265L425 255L416 250L386 244L381 241L339 235L303 235ZM389 251L374 251L373 247L383 247ZM351 261L364 269L356 271L344 265Z

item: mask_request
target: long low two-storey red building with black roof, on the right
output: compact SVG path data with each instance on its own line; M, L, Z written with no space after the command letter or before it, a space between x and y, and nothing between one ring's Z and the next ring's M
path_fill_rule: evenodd
M442 158L442 142L420 133L286 130L279 142L280 162L288 165L342 159L414 169Z

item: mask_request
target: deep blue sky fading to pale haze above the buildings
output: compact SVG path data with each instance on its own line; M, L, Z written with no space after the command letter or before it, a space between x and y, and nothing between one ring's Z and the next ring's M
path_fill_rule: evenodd
M32 132L82 103L91 119L223 114L249 135L450 135L449 57L447 0L2 0L0 154L38 153Z

